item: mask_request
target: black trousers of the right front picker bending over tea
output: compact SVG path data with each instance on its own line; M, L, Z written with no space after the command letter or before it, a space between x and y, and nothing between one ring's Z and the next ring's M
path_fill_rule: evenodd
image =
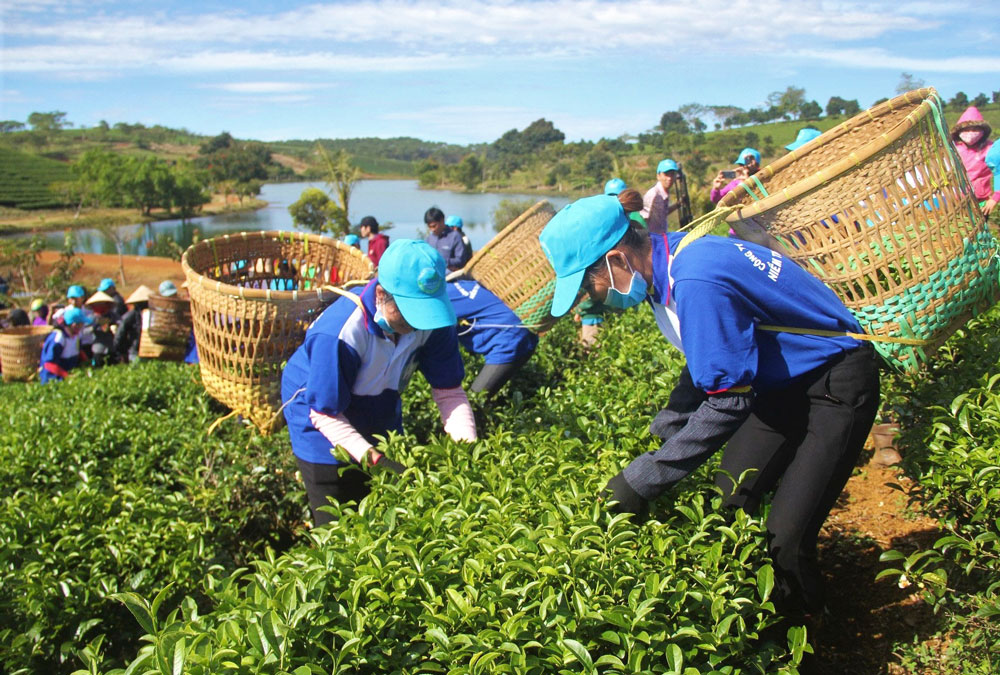
M793 386L758 394L751 417L729 440L716 484L727 504L753 513L771 490L767 518L779 609L822 608L816 541L850 478L879 406L875 351L863 345ZM733 481L756 469L738 486ZM730 478L730 476L732 478Z

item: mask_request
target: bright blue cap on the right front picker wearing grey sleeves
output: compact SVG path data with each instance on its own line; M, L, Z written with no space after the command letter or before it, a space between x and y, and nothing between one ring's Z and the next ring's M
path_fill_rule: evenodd
M562 316L573 307L584 272L621 241L628 222L621 203L609 195L578 199L552 216L538 235L556 271L552 316Z

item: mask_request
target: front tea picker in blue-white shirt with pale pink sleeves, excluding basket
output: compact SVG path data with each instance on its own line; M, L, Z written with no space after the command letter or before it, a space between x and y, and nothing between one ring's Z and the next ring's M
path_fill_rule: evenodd
M403 472L375 449L375 435L402 431L400 394L415 369L431 385L445 431L476 439L445 274L444 260L426 243L393 242L378 276L328 307L288 360L284 415L316 525L331 520L319 510L328 499L360 501L369 492L368 475L344 470L336 446L359 464Z

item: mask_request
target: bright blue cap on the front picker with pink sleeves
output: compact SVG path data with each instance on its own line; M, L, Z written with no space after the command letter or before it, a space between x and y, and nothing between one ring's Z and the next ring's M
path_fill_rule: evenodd
M397 239L378 263L378 283L396 301L406 323L417 330L454 326L444 258L427 242Z

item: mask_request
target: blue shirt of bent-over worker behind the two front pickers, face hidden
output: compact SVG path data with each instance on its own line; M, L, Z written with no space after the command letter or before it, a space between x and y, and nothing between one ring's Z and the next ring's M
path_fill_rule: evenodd
M520 328L517 314L477 282L453 281L448 284L448 298L459 321L458 341L486 357L487 364L513 363L535 351L538 336Z

